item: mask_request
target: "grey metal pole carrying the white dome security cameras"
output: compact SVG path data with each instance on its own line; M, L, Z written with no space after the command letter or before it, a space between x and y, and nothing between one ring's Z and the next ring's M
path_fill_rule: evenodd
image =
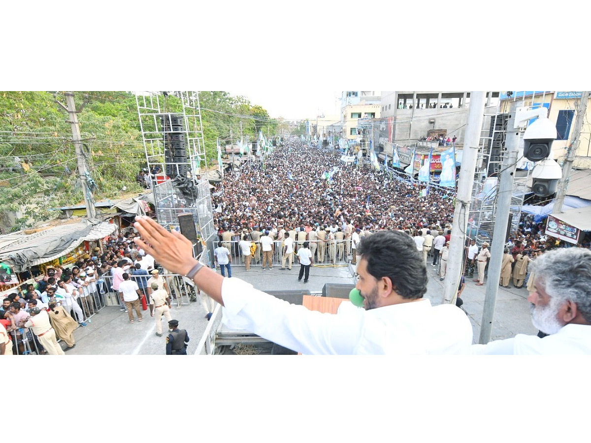
M498 194L496 198L495 229L492 234L491 259L488 263L488 281L482 322L480 323L480 338L478 343L486 344L491 341L492 322L495 318L496 295L499 291L499 279L501 278L501 263L505 250L505 236L509 223L509 211L511 210L511 194L513 193L513 180L517 168L517 155L519 152L519 138L521 128L515 128L515 105L509 110L509 120L505 137L505 154L501 177L499 178Z

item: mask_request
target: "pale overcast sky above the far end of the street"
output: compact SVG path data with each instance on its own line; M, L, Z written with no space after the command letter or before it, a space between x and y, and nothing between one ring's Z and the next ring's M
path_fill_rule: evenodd
M317 115L339 115L340 91L278 90L275 87L227 90L233 96L248 97L251 105L261 105L273 118L287 120L315 118Z

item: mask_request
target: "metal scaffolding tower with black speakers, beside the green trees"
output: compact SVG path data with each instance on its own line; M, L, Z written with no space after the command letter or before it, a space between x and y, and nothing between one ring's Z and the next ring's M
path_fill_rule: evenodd
M207 246L200 261L210 265L217 237L209 181L200 178L202 171L207 175L207 158L199 93L141 91L135 93L135 101L148 170L158 170L152 177L158 223L168 230L180 229L178 215L192 214Z

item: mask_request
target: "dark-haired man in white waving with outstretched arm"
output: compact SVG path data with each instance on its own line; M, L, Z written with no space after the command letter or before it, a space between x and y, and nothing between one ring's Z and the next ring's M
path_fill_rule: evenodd
M352 299L364 309L309 311L223 278L193 258L191 242L149 217L136 217L138 246L166 269L192 279L223 306L223 323L302 354L467 354L472 325L453 305L431 306L423 255L405 233L383 231L358 244L359 275ZM361 305L361 302L359 303Z

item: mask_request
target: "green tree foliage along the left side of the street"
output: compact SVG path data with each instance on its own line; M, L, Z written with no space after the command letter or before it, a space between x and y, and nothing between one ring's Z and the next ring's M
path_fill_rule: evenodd
M95 200L118 198L122 189L141 191L135 175L145 167L145 150L132 92L84 91L74 93L76 105L89 103L78 114L83 154L98 189ZM65 103L63 93L56 98ZM161 95L167 112L181 112L179 92ZM274 134L277 122L267 110L246 97L223 91L199 92L203 137L208 164L217 158L216 142L251 140L261 130ZM255 120L256 119L256 120ZM12 230L52 218L52 211L82 201L69 115L51 92L0 92L0 223L20 211ZM230 132L232 137L230 138ZM17 162L15 163L15 158Z

